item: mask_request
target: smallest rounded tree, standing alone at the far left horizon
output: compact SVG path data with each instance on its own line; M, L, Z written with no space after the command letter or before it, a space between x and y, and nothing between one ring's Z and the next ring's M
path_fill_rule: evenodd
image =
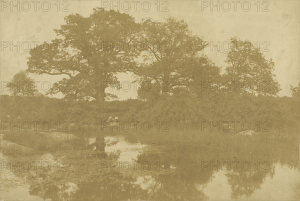
M8 83L9 91L12 95L19 96L35 96L40 94L26 71L16 73L12 80Z

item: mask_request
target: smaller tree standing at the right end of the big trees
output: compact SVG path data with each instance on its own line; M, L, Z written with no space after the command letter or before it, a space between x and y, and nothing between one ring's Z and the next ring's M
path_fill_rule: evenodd
M231 48L225 62L224 79L249 83L248 92L275 96L279 92L279 83L275 80L274 62L267 60L259 48L249 40L232 37Z

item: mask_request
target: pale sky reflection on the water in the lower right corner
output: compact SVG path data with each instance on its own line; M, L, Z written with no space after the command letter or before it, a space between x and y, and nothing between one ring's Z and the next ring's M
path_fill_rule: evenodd
M274 174L263 178L261 185L251 193L240 194L250 188L238 187L232 190L232 185L228 179L228 173L219 171L213 176L213 179L207 185L199 185L201 189L211 200L229 200L235 196L239 200L296 200L299 197L299 170L290 168L286 165L276 163L274 165ZM231 173L229 173L231 174ZM229 175L229 177L231 177ZM253 177L252 180L257 179ZM260 182L260 181L259 181ZM233 185L236 186L236 185ZM217 192L217 193L216 193Z

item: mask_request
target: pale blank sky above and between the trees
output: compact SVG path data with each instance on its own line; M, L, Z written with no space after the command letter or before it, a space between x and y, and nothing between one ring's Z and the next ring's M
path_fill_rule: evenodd
M11 7L11 1L1 1L0 11L0 79L1 81L9 81L15 73L20 70L26 69L26 61L29 56L27 44L31 44L34 47L32 41L50 41L55 38L53 28L59 28L64 23L64 16L70 13L79 13L83 16L88 16L92 12L92 8L100 7L101 3L109 1L100 0L69 0L60 1L59 11L57 11L57 1L49 0L51 7L49 11L47 9L47 2L43 4L41 9L41 2L37 4L37 10L34 10L34 4L30 3L31 8L28 8L27 4L20 3L20 11L17 11L17 7ZM13 1L15 4L17 1ZM31 2L30 0L28 2ZM122 2L122 1L120 1ZM144 11L141 9L141 3L137 3L136 11L134 10L134 3L131 0L127 1L131 5L131 9L127 11L130 15L135 17L139 22L142 18L152 17L155 20L163 21L165 17L174 16L178 19L185 20L193 34L203 36L203 40L211 41L213 44L217 44L224 41L229 41L231 36L238 36L240 39L249 39L251 42L259 44L260 48L265 47L263 51L267 59L272 58L275 62L274 73L278 80L282 90L279 92L280 96L290 96L289 85L296 85L300 80L299 75L299 0L270 0L259 1L259 11L257 11L257 1L249 0L250 8L247 9L247 3L241 7L240 1L234 11L234 4L230 3L231 8L229 11L221 9L227 9L228 5L220 2L220 11L217 11L217 7L212 7L210 10L210 0L169 0L167 9L169 11L161 11L161 9L167 5L167 2L160 1L159 10L157 11L156 0L150 0L150 10ZM215 4L217 1L213 1ZM231 2L231 1L227 1ZM268 2L262 3L262 2ZM8 3L8 4L7 4ZM116 4L117 1L114 1ZM208 3L208 7L205 5ZM256 4L255 4L256 3ZM126 9L127 5L123 4ZM147 8L147 4L144 8ZM207 5L207 4L206 4ZM61 11L63 7L66 7L69 11ZM263 7L269 11L261 11ZM11 9L13 10L11 11ZM243 9L244 10L243 10ZM25 11L28 9L28 11ZM117 9L116 7L114 9ZM121 12L126 12L120 10ZM13 44L23 44L23 50L17 50L14 47L11 51L10 46L4 47L5 41L12 41ZM28 41L28 42L26 42ZM224 46L224 48L226 48ZM203 51L216 65L224 68L225 54L218 52L216 48L212 51L210 47L205 48ZM61 79L61 76L53 75L30 75L36 81L49 81L53 83ZM121 74L119 76L120 81L133 80L130 75ZM108 89L109 90L109 89ZM7 94L6 91L1 91L1 94ZM120 98L135 98L136 91L134 86L131 86L129 91L115 92Z

